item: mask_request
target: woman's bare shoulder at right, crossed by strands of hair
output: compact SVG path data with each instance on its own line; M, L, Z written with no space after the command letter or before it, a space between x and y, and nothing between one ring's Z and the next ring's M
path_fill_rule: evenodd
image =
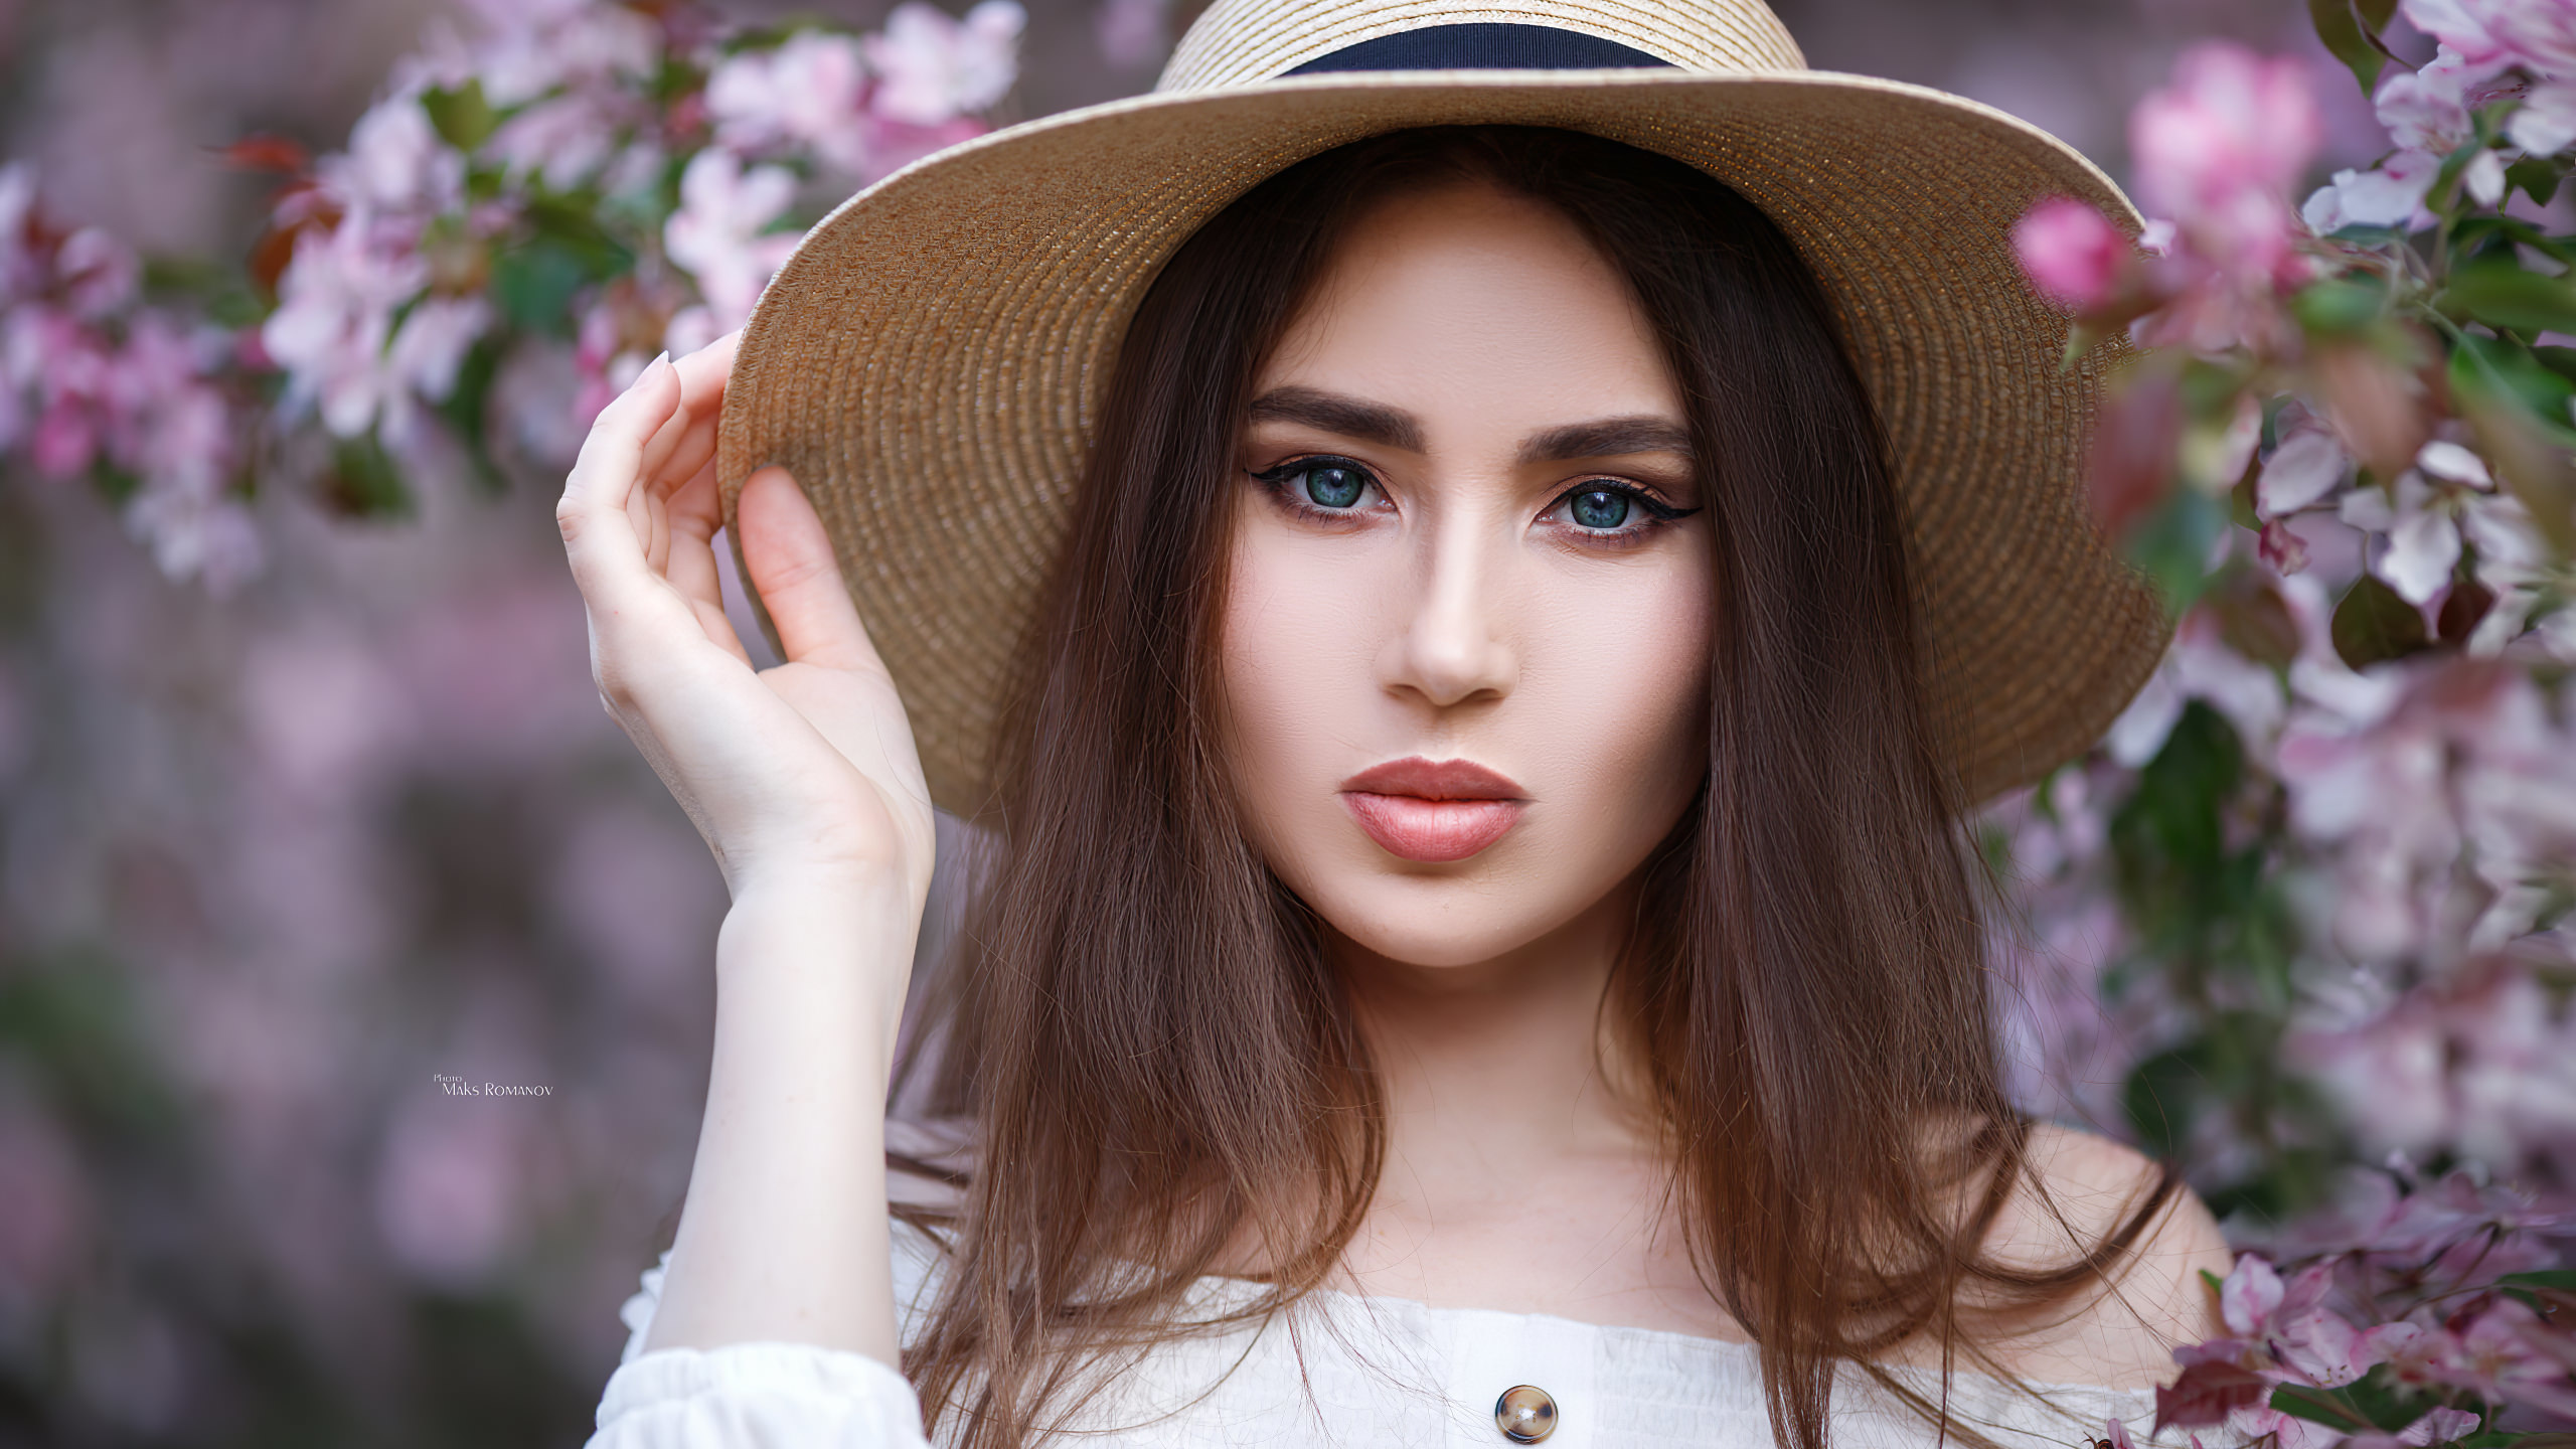
M2136 1147L2038 1124L2030 1129L2030 1173L1996 1217L1986 1250L2009 1269L2063 1269L2120 1232L2156 1183L2156 1163ZM1989 1341L1989 1354L2014 1374L2048 1385L2166 1382L2177 1343L2218 1336L2218 1307L2200 1274L2226 1276L2228 1263L2218 1220L2190 1189L2177 1189L2105 1281L2079 1287L2063 1307Z

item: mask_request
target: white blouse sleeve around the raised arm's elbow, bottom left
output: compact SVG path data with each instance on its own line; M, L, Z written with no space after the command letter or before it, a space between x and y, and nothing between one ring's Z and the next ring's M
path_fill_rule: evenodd
M626 1354L600 1397L590 1449L927 1449L922 1405L891 1366L811 1343L644 1351L662 1263L626 1299Z

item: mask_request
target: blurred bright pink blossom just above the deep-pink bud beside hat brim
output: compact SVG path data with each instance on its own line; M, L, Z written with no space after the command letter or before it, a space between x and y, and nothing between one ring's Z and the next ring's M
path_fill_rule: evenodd
M2308 67L2228 41L2192 46L2130 111L2138 193L2210 263L2275 276L2293 260L2285 191L2324 134Z

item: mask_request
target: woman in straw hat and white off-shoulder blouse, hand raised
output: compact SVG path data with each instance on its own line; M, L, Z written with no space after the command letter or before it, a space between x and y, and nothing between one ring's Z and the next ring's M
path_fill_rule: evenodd
M2115 193L1752 3L1489 15L1226 0L600 415L734 892L600 1441L2076 1444L2213 1333L2205 1209L2004 1098L1955 825L2159 647L2002 250Z

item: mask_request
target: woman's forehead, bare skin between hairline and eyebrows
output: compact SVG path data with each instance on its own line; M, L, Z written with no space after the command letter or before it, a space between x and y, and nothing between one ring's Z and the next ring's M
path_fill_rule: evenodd
M1610 258L1564 211L1481 183L1363 211L1255 394L1275 387L1396 405L1432 433L1680 415L1654 325Z

